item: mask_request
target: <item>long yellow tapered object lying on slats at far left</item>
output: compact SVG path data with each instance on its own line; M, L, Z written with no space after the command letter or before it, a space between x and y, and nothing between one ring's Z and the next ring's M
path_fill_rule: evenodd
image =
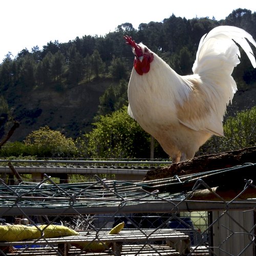
M0 241L18 242L27 239L67 237L79 234L75 230L60 225L0 225Z

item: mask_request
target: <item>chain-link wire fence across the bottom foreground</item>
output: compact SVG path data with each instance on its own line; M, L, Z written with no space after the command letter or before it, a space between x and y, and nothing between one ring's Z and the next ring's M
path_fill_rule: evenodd
M255 255L251 180L228 200L202 179L182 193L98 176L0 181L1 255ZM199 190L214 200L197 199Z

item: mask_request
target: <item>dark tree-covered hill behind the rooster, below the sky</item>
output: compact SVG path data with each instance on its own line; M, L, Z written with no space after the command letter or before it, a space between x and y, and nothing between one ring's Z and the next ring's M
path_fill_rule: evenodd
M90 131L97 115L109 114L127 104L127 84L133 67L131 48L124 35L142 41L177 73L191 73L201 37L220 25L243 28L256 38L256 13L237 9L223 20L186 19L172 15L163 22L117 26L105 36L84 35L65 43L50 41L40 50L7 54L0 64L0 138L17 120L14 140L49 125L77 137ZM233 77L238 88L255 88L256 71L241 52ZM250 102L254 104L253 102Z

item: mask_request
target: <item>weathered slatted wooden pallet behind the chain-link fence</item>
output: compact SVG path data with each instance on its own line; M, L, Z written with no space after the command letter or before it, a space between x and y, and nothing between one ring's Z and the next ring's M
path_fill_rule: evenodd
M95 242L95 241L111 242L114 244L113 250L115 251L116 255L121 256L121 255L130 255L130 253L127 253L127 250L128 250L127 248L130 248L129 250L132 253L131 255L134 255L135 248L137 248L136 250L137 252L140 253L140 255L144 255L145 251L147 251L145 252L146 253L145 255L159 255L160 252L158 252L155 247L148 245L148 243L153 243L156 241L162 241L162 242L165 241L167 245L164 245L165 249L160 253L161 255L185 255L190 251L189 236L173 229L158 229L158 230L132 229L132 230L122 230L119 234L108 234L105 231L100 231L100 232L84 231L80 233L83 233L85 236L79 235L79 236L59 237L59 238L52 238L52 239L19 241L19 242L11 242L11 243L0 242L0 245L1 246L10 246L10 245L29 246L30 245L31 246L36 244L36 245L42 246L42 245L57 244L58 252L63 256L67 256L68 254L70 254L69 244L71 243ZM129 245L130 247L127 247L127 243L135 243L135 242L137 243L136 245L137 247L135 245ZM134 246L134 248L131 248L132 246ZM168 249L167 252L166 252L166 248ZM26 251L27 250L31 251L32 249L34 248L27 248ZM158 249L162 250L163 245L161 245ZM44 248L42 248L42 250L44 250ZM53 253L52 255L57 254L56 252L54 252L54 250L51 250L50 253ZM25 255L24 252L22 254ZM49 255L49 253L47 252L46 255ZM101 254L97 254L97 255L101 255Z

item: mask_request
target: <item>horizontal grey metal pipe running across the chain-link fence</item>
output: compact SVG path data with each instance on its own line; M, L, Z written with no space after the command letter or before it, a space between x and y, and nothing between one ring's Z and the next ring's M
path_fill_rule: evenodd
M179 203L179 206L173 205ZM256 200L245 200L232 202L228 210L249 210L254 209ZM140 202L139 204L125 205L121 209L119 206L99 206L87 207L81 204L80 207L69 206L67 208L41 208L41 207L0 207L2 215L16 216L20 214L34 216L55 216L55 215L86 215L86 214L130 214L132 213L177 213L188 211L226 211L226 202L221 201L183 201L170 200L170 202Z

